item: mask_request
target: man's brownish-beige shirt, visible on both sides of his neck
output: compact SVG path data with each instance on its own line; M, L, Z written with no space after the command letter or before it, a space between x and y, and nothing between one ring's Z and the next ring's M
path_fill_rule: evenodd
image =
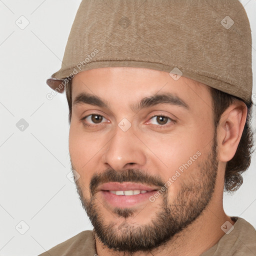
M245 219L236 217L233 230L200 256L256 256L256 230ZM82 231L39 256L96 256L91 230Z

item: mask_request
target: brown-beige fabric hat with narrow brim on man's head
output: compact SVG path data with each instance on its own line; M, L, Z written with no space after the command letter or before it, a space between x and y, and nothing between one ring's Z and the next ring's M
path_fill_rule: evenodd
M183 75L251 102L251 31L238 0L82 0L56 91L83 70L144 67Z

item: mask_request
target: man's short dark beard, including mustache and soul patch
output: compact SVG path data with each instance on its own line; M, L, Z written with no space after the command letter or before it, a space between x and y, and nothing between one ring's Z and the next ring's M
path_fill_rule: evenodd
M152 176L132 168L125 171L108 169L103 173L95 173L90 181L90 198L84 198L82 185L76 180L77 192L93 225L94 234L109 249L129 254L136 251L150 251L170 241L174 235L197 219L211 200L218 167L216 148L217 142L214 136L208 157L197 164L196 171L186 173L188 178L180 182L181 188L171 202L168 200L168 188L161 194L162 197L157 199L161 200L161 203L155 207L155 216L148 221L148 224L131 224L129 218L136 215L136 210L131 208L113 209L113 215L123 218L122 223L107 221L100 210L100 202L95 196L95 190L99 184L105 182L125 181L162 187L165 182L159 176Z

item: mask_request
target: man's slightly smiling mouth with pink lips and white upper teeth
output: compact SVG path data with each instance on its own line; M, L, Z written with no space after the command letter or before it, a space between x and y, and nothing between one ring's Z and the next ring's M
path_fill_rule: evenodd
M104 202L113 207L127 208L149 202L149 197L158 189L132 182L109 182L98 187Z

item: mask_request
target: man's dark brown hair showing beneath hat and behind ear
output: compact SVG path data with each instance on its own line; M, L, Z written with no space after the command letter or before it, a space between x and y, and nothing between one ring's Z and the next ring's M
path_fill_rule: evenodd
M71 83L72 80L70 80L65 86L66 98L69 107L69 123L72 115ZM227 109L228 106L234 103L235 99L241 99L218 89L212 87L209 88L213 99L214 127L216 129L219 125L221 114ZM250 128L252 103L246 104L246 106L248 111L240 142L233 158L226 163L224 190L227 192L236 191L240 187L243 181L241 173L247 170L250 165L253 146L253 133Z

